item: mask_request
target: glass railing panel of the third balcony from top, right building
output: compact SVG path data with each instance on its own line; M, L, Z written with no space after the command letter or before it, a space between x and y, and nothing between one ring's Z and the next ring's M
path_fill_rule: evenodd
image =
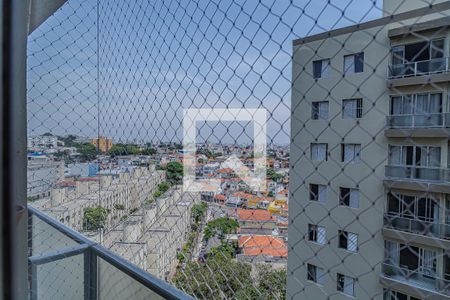
M386 166L387 178L450 182L449 170L431 167Z

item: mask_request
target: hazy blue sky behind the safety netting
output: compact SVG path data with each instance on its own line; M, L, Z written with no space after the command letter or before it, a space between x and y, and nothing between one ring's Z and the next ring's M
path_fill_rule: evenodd
M380 0L68 0L29 36L28 134L178 142L183 109L265 108L269 143L288 144L292 41L381 14ZM199 141L250 141L251 124L208 123Z

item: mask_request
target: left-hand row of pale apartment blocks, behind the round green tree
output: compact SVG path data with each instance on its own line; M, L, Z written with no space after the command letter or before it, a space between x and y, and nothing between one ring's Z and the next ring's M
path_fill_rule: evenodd
M140 167L117 177L79 179L71 185L53 188L50 197L32 205L77 231L83 231L84 210L101 206L109 211L105 222L108 229L138 209L164 180L164 171L155 171L154 166Z

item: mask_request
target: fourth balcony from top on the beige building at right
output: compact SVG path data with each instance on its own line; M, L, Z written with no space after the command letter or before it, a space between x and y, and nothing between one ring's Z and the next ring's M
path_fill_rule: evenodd
M404 234L403 238L405 240L414 240L415 242L434 245L436 247L450 247L450 224L385 214L383 234L395 238L399 235L398 231L411 234Z

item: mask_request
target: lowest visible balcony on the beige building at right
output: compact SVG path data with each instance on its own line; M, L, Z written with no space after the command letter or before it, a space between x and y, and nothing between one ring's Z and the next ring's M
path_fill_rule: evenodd
M419 292L426 299L450 299L450 280L440 278L431 271L419 272L383 263L380 281L392 289L411 291L412 294Z

